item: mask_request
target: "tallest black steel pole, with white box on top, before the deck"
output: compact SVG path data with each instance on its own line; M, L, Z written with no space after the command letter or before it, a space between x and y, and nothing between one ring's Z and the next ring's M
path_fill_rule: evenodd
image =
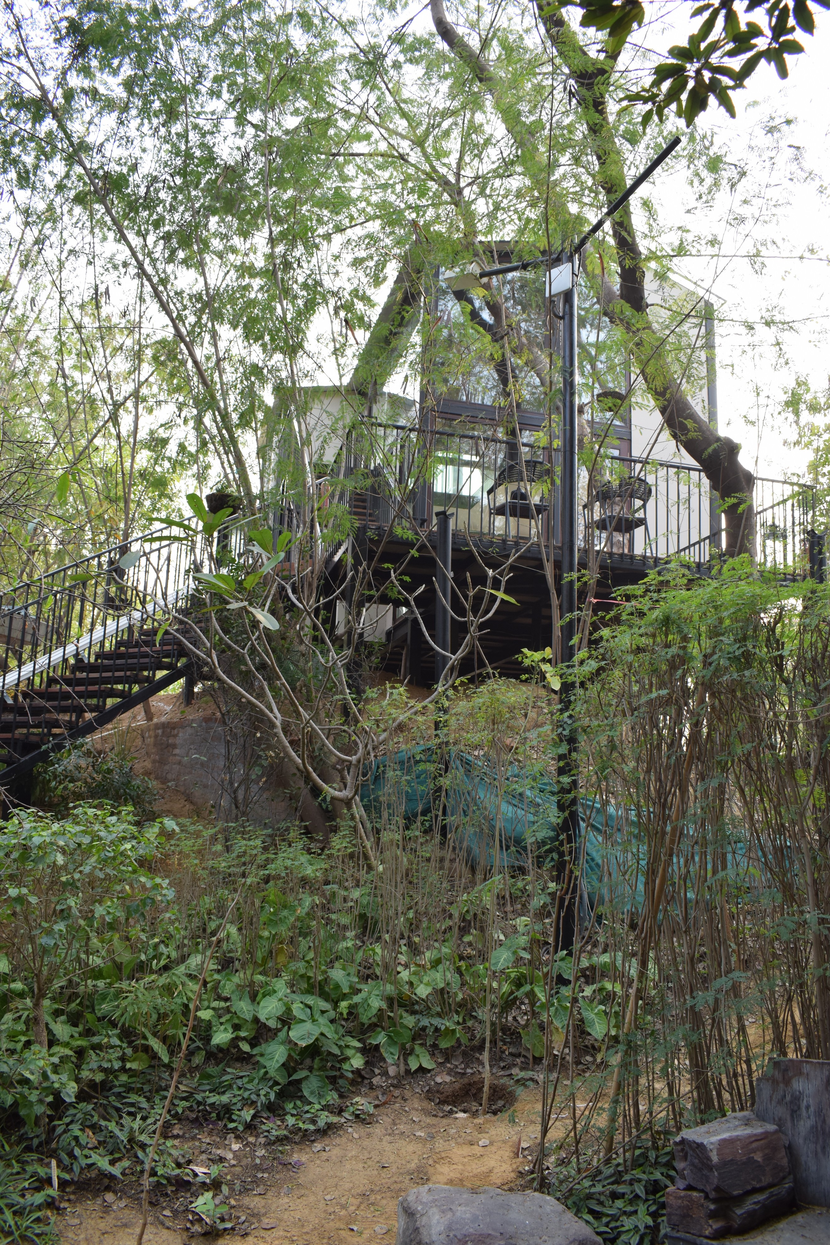
M561 508L561 593L559 636L561 645L561 664L564 667L560 688L560 732L564 751L559 757L557 806L561 813L561 870L560 879L564 893L560 905L561 924L559 945L574 945L576 931L576 878L579 809L577 776L579 757L576 728L572 716L575 680L567 667L576 659L576 271L577 256L571 256L571 288L562 295L562 432L560 467L560 508Z

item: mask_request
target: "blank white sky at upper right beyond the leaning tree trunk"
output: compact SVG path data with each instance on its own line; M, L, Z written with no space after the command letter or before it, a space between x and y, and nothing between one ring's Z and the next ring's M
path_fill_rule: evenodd
M763 66L750 78L748 88L735 93L737 121L730 121L719 108L698 120L699 127L714 128L739 157L753 139L758 141L760 123L770 113L793 118L788 142L803 148L804 163L816 174L816 181L788 184L788 178L781 176L770 184L770 199L785 197L790 200L775 230L765 227L755 230L758 237L770 239L764 253L775 258L765 261L760 274L754 274L747 260L732 260L727 266L722 260L718 266L723 270L714 280L712 260L686 259L677 269L699 285L708 288L712 283L723 300L725 322L718 341L719 423L743 443L748 466L754 461L762 476L801 472L806 456L785 444L790 433L781 415L781 395L798 375L809 377L814 387L824 388L830 374L830 14L816 12L816 34L804 42L806 52L794 57L786 82L779 82L775 71ZM703 225L694 193L681 173L663 176L661 169L651 193L667 223L679 224L692 218L697 228ZM717 223L716 219L713 224ZM786 258L801 255L809 248L820 258ZM734 249L727 239L724 253ZM742 249L750 250L752 239ZM774 331L758 324L770 305L775 305L781 317L798 321L795 331L785 336L789 357L784 365L772 347ZM754 341L740 322L734 322L742 320L758 324Z

